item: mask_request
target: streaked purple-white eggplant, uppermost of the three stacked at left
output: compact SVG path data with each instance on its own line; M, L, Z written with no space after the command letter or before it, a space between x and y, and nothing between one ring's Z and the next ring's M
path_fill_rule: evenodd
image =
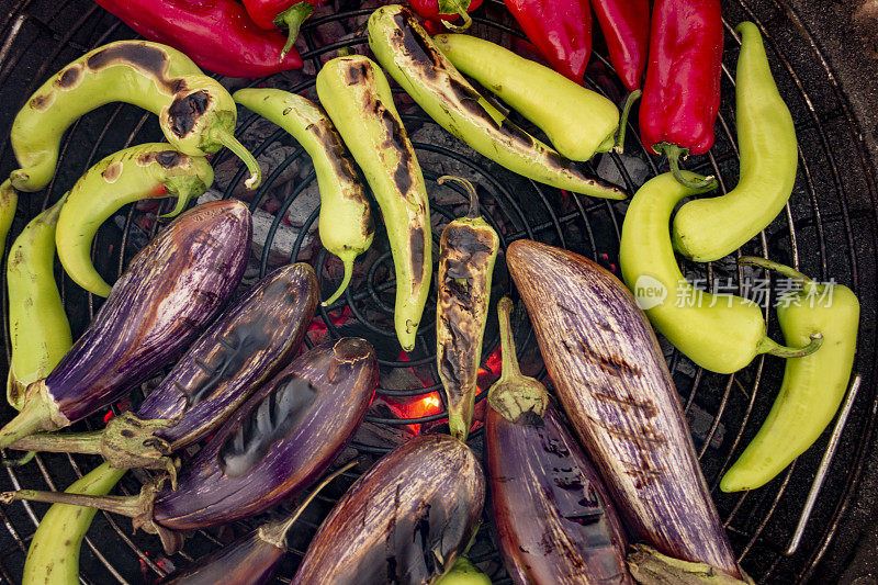
M48 376L27 386L0 448L56 430L123 396L172 362L235 290L252 220L235 200L200 205L135 256L86 333Z

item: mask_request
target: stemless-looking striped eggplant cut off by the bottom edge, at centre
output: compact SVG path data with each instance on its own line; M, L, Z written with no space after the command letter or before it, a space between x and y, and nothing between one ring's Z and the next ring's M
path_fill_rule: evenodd
M292 584L435 583L469 544L484 500L482 466L465 443L416 437L338 500Z

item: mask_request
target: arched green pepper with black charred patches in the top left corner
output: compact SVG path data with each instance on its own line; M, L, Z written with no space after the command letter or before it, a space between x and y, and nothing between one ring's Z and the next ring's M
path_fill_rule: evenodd
M212 155L225 146L250 170L248 188L261 181L256 159L234 136L237 109L218 81L171 47L120 41L55 74L18 113L10 140L22 168L10 176L13 187L38 191L48 184L64 132L79 116L110 102L133 103L158 114L165 137L185 155Z

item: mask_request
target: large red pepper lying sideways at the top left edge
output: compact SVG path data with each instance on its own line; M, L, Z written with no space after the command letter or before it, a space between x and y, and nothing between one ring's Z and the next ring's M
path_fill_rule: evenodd
M200 67L228 77L264 77L299 69L282 60L283 35L260 30L234 0L95 0L138 34L182 50Z

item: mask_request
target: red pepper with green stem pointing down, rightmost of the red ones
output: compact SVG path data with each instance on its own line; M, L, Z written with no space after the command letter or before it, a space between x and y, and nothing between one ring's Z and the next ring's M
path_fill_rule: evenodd
M652 11L650 64L640 104L640 135L653 154L664 154L683 184L679 159L713 146L720 108L722 16L720 0L656 0Z

